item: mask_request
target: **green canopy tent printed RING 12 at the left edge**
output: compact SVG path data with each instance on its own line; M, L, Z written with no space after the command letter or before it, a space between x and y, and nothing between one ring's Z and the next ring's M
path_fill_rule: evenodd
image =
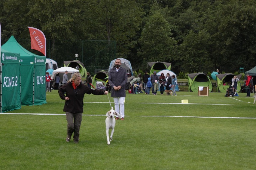
M20 54L1 49L1 111L21 108Z

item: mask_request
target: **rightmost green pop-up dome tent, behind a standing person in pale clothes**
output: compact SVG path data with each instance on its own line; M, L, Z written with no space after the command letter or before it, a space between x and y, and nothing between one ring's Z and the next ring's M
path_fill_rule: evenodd
M219 74L217 76L217 92L223 92L226 93L229 86L232 84L231 79L235 76L232 73L225 73L225 74ZM242 74L237 75L237 78L240 79ZM225 83L225 85L223 85ZM236 92L239 92L241 90L241 85L239 82L237 82L237 89Z

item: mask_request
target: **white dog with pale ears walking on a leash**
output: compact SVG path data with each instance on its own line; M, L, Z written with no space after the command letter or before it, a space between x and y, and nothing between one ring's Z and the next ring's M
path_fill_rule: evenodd
M115 120L114 115L117 115L118 117L121 117L121 115L116 113L115 110L113 110L113 107L112 107L112 109L107 112L107 118L105 120L108 145L110 145L110 142L113 140L113 133L114 133L114 128L115 128L115 124L116 124L116 120ZM110 139L109 139L109 136L108 136L108 130L109 129L111 129Z

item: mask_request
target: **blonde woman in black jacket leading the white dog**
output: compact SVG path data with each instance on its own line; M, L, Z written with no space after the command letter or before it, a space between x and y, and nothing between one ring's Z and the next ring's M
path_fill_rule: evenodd
M85 84L81 83L81 75L75 73L68 83L59 88L59 97L65 100L63 111L66 112L66 119L68 122L66 141L69 142L74 133L74 143L79 141L79 130L82 122L83 99L84 94L106 95L108 91L100 89L91 89ZM66 92L66 96L64 95Z

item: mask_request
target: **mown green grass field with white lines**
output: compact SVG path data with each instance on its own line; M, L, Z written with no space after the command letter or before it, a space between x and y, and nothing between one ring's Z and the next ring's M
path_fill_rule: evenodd
M74 144L65 141L64 101L53 90L47 104L6 112L36 115L0 113L0 169L256 169L256 104L245 96L127 94L125 121L107 145L108 96L86 94Z

